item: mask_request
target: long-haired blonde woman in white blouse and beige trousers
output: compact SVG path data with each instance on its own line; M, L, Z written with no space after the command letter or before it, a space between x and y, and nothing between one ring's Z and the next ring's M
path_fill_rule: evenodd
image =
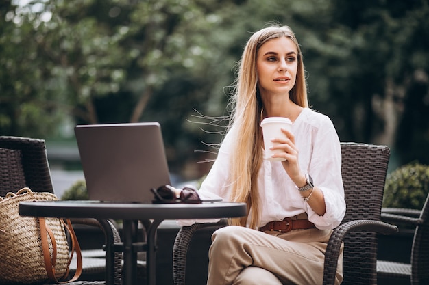
M212 235L207 284L322 284L326 243L345 215L341 148L331 120L308 107L302 53L289 27L249 39L233 99L230 129L198 195L245 202L248 215ZM282 129L287 139L271 140L271 149L282 150L273 157L285 161L264 159L267 117L293 123ZM337 270L340 284L342 258Z

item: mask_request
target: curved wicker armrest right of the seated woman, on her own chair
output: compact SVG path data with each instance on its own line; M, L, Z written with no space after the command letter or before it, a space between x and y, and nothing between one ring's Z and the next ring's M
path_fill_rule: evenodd
M349 232L376 232L378 234L394 234L397 226L373 220L356 220L343 223L332 232L325 252L325 267L323 270L323 285L335 283L336 266L341 245Z

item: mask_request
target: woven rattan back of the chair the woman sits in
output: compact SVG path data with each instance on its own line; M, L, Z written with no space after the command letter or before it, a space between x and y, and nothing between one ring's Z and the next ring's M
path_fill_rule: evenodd
M387 146L342 143L343 185L347 211L342 223L358 219L380 221L390 150ZM344 239L346 284L377 284L377 236L352 232Z

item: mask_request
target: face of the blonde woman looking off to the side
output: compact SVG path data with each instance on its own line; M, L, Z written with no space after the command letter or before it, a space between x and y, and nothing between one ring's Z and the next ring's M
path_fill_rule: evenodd
M262 97L289 95L296 81L297 56L297 46L285 36L262 44L256 55L258 86Z

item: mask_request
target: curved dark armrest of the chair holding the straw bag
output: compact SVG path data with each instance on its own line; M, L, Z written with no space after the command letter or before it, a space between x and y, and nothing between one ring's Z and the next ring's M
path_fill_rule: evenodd
M121 243L121 236L117 230L114 222L108 219L70 219L71 223L77 223L87 226L94 226L100 228L104 232L106 238L106 285L121 285L121 271L122 271L122 252L114 250L115 243Z

